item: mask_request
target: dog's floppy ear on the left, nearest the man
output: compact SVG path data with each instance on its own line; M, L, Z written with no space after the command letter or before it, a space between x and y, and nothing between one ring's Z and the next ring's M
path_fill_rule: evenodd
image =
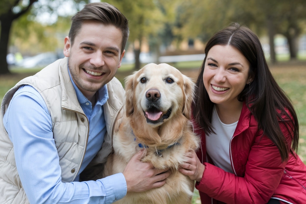
M127 117L134 113L134 76L135 73L125 77L125 108Z

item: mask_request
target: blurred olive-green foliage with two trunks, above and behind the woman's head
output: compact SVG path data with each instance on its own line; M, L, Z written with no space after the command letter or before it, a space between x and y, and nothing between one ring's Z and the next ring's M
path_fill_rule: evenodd
M190 0L183 1L180 10L177 33L199 37L204 43L230 22L245 24L257 34L267 32L273 61L275 34L287 38L291 59L296 58L297 38L306 21L305 0Z

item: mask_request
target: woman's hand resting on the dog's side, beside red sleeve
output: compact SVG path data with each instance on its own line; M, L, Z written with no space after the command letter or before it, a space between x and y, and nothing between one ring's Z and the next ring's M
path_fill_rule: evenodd
M205 170L205 165L201 163L195 151L188 152L185 156L185 163L179 169L182 174L189 176L191 180L200 182Z

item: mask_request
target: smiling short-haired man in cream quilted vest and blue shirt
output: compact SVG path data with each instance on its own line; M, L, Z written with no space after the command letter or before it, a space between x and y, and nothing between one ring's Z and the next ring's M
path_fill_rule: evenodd
M6 93L0 203L112 203L127 191L165 184L169 172L140 162L141 151L123 173L92 180L122 119L124 89L114 75L128 36L117 8L88 4L72 18L65 58Z

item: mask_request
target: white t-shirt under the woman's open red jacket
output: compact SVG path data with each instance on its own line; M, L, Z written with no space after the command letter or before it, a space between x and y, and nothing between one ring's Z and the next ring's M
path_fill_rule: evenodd
M237 123L238 121L232 124L222 123L214 106L211 124L215 134L211 133L205 136L206 150L215 166L231 173L233 170L230 164L230 140L234 135Z

